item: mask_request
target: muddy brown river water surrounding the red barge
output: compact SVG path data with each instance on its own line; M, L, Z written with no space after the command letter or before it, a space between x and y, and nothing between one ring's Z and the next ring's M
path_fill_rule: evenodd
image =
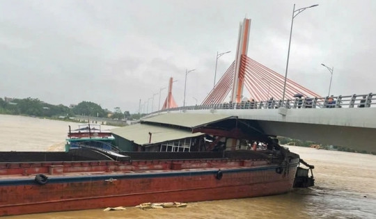
M73 122L0 115L0 151L61 151L68 124L77 127ZM127 207L124 211L93 209L3 218L376 218L376 156L289 148L315 165L315 186L283 195L192 202L185 208Z

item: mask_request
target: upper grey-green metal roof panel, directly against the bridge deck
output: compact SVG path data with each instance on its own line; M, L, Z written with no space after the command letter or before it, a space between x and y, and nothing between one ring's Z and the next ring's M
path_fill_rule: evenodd
M172 124L180 127L195 128L205 124L226 120L233 116L217 114L196 113L165 113L141 120L141 122L156 122L160 124Z

